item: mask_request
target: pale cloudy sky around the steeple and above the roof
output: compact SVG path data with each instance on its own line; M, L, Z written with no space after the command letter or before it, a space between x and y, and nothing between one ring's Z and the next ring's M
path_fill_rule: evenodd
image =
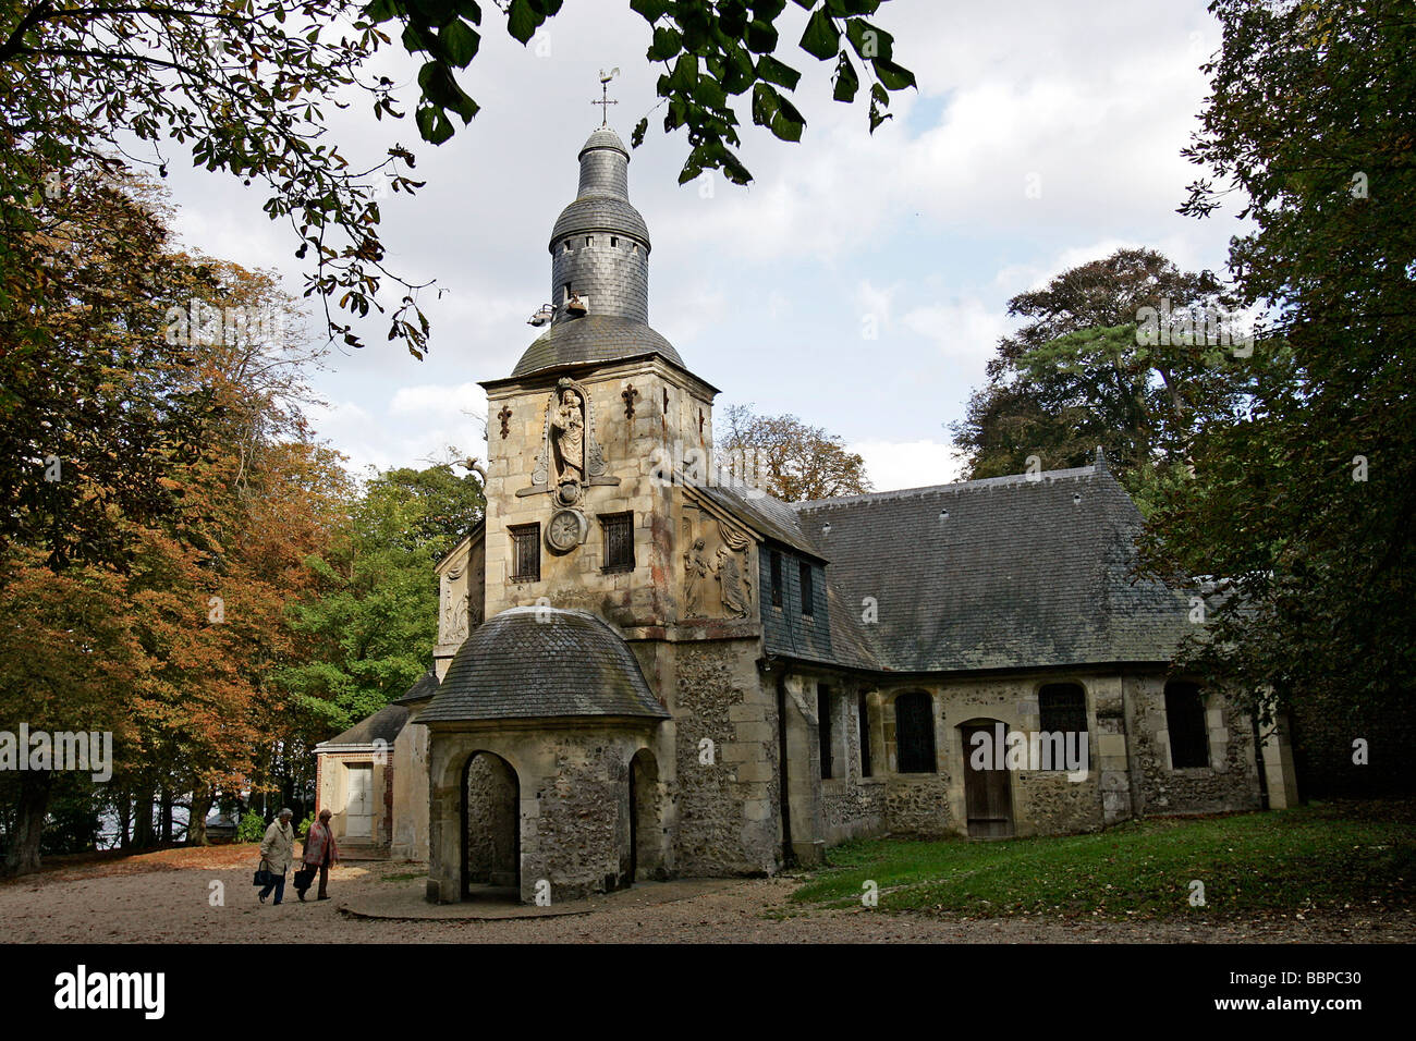
M633 152L630 197L654 246L650 324L722 388L719 408L840 433L877 489L956 479L946 428L1012 327L1008 297L1121 245L1222 271L1232 217L1175 212L1201 173L1180 150L1205 96L1199 65L1219 47L1204 7L892 0L875 20L919 92L893 95L895 118L871 136L864 105L830 99L831 64L797 50L804 13L789 4L777 55L804 72L799 144L743 110L739 154L756 180L718 178L711 197L678 186L687 143L663 133L661 109ZM481 112L450 142L418 142L411 119L374 122L362 102L334 123L354 157L415 146L428 186L382 204L385 244L395 271L445 290L423 296L423 361L379 326L316 380L329 402L317 431L355 470L422 465L446 445L483 455L477 381L508 375L538 333L525 320L549 299L547 241L599 123L599 71L620 69L610 123L626 143L657 102L650 33L627 0L569 0L527 48L483 10L464 79ZM411 84L416 65L391 54L387 68ZM275 268L299 293L296 244L261 212L263 195L173 167L184 245Z

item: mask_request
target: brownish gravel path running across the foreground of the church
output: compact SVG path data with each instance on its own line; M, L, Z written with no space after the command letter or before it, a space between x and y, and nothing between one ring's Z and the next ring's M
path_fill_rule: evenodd
M800 911L786 904L794 882L743 880L721 892L654 906L609 906L590 915L500 922L396 922L350 918L340 897L408 875L406 864L351 864L330 877L336 899L300 904L290 887L280 906L256 902L253 847L166 850L74 864L0 885L6 940L72 943L1383 943L1416 939L1416 911L1223 921L1116 922L1056 918L966 919L879 911ZM212 906L212 882L224 888ZM406 884L406 882L405 882ZM776 918L790 914L787 918Z

